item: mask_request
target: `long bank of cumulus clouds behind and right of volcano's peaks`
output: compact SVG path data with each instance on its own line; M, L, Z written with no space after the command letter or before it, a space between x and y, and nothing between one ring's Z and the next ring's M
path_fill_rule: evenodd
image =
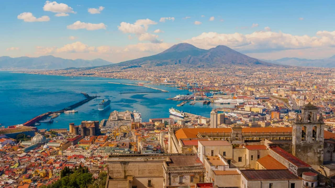
M265 31L256 31L251 34L204 32L184 42L205 49L227 45L241 52L335 46L335 31L318 31L316 36L309 36L272 32L269 29L265 27Z

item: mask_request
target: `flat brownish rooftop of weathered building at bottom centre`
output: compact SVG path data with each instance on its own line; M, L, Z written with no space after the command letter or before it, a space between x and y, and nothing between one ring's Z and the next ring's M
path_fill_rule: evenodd
M180 166L203 166L202 162L196 155L179 155L170 156L171 161L165 162L169 167L180 167Z

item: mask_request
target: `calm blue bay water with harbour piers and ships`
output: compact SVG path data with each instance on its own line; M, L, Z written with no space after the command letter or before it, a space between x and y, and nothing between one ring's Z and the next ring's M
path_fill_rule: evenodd
M94 77L75 77L49 75L31 75L0 71L0 123L5 126L21 124L48 111L57 111L85 99L80 93L100 96L76 108L78 113L64 114L55 118L53 123L41 123L38 128L68 128L70 122L80 124L83 120L102 120L109 117L111 111L138 110L142 120L169 117L169 108L175 107L209 117L212 108L223 107L220 104L186 104L177 107L179 101L165 100L177 94L190 93L174 87L152 86L168 90L168 93L122 94L122 92L145 92L153 89L109 84L108 82L136 83L132 80L107 79ZM138 81L137 81L138 82ZM97 106L103 99L111 100L111 108L98 111Z

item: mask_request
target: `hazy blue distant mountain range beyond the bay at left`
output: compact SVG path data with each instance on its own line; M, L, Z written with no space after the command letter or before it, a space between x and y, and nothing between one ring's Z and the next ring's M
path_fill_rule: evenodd
M38 58L19 57L11 58L8 56L0 57L0 69L65 69L68 67L93 67L109 65L111 62L103 59L94 60L69 60L56 58L54 56L41 56Z

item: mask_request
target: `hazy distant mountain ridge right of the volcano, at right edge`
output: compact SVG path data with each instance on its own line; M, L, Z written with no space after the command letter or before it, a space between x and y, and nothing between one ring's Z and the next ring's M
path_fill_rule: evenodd
M335 56L326 59L319 60L308 60L299 58L281 58L279 60L264 60L270 63L279 65L292 65L292 66L304 66L304 67L335 67Z

